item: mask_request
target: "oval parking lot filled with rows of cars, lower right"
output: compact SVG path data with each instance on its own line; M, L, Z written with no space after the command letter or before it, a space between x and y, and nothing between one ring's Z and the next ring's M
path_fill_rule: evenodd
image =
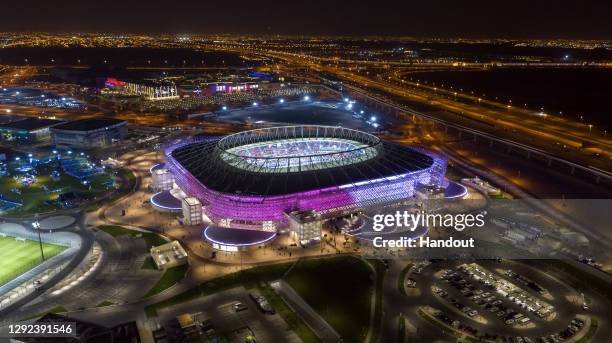
M505 342L562 342L590 323L576 291L511 261L421 263L405 278L430 315L459 331Z

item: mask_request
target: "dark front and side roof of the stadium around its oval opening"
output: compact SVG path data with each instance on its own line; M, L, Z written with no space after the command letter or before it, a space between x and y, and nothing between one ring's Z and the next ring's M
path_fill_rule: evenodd
M335 168L256 173L236 168L215 151L217 140L176 148L171 156L207 188L226 194L272 196L393 177L431 167L434 159L405 146L382 142L374 158Z

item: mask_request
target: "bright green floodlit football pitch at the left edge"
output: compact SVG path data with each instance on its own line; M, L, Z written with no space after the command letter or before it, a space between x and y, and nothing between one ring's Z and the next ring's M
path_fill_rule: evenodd
M66 249L43 243L45 258L49 259ZM15 237L0 237L0 286L36 267L42 262L37 241L18 241Z

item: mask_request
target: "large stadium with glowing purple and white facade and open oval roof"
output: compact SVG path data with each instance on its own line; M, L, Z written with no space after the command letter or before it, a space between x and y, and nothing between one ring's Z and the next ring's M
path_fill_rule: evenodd
M262 232L271 239L291 227L292 213L320 222L404 201L419 185L447 185L444 158L341 127L284 126L190 139L167 147L165 157L175 184L197 198L214 223L204 235L216 243L215 234L228 235L220 228L258 231L248 235L261 243Z

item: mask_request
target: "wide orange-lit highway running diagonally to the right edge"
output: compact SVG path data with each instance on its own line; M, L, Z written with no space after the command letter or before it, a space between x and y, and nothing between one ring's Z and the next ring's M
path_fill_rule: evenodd
M463 99L475 100L459 101L454 91L449 96L448 90L420 87L416 83L393 80L381 80L375 75L369 75L367 70L354 68L347 64L324 64L316 62L316 56L286 54L279 51L253 51L236 48L242 53L265 55L285 61L285 69L291 73L292 66L296 69L307 68L313 73L335 75L345 84L352 84L376 94L394 98L397 101L416 103L431 109L436 109L436 115L454 122L462 118L470 118L490 126L489 132L499 137L505 137L536 148L543 149L553 155L562 156L585 166L595 166L602 170L612 171L612 140L600 130L594 130L588 123L575 122L565 117L546 115L528 111L508 104L494 104L493 101L480 101L461 94ZM372 73L374 74L374 73ZM396 80L397 81L397 80ZM419 88L420 87L420 88ZM459 96L459 94L457 94ZM487 106L483 106L487 105ZM505 106L505 107L504 107ZM599 158L598 153L605 158Z

